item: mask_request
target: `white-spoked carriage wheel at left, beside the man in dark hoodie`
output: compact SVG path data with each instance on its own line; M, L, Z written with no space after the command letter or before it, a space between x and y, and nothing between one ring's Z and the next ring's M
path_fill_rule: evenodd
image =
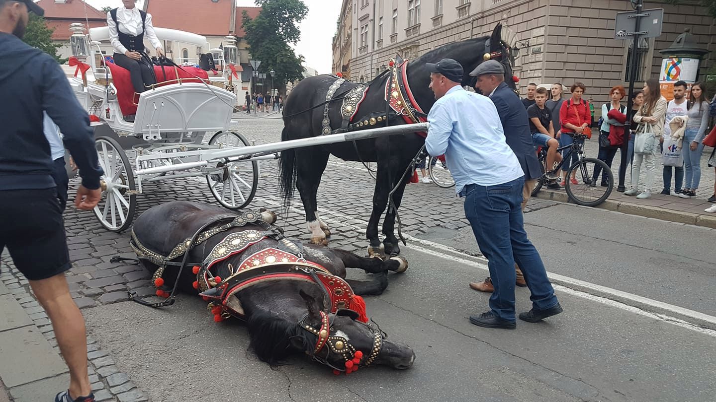
M132 224L137 207L132 165L115 139L97 137L95 148L100 167L105 171L100 177L102 198L95 207L95 216L107 230L122 232Z

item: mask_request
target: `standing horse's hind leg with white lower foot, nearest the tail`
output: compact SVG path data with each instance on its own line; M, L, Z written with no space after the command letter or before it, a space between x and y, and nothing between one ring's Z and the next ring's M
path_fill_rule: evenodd
M301 195L306 211L306 222L311 232L311 243L327 245L326 233L321 228L321 221L316 215L318 208L318 187L321 184L321 175L328 165L328 152L318 148L296 149L296 188ZM327 229L327 227L326 227Z

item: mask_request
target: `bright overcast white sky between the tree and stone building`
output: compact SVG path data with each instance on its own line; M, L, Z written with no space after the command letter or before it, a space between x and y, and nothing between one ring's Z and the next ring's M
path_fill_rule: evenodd
M171 1L171 0L154 0ZM208 1L208 0L205 0ZM137 4L140 6L144 0ZM256 6L253 0L237 0L238 6ZM122 5L120 0L87 0L97 9L105 6ZM331 73L331 44L336 33L336 21L341 12L340 0L304 0L309 7L309 14L301 23L301 41L296 46L296 53L303 54L306 66L318 70L319 74Z

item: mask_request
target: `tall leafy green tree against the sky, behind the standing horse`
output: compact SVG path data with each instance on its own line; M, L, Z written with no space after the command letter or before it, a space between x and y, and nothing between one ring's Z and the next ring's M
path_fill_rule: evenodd
M299 41L298 24L306 18L308 7L301 0L256 0L256 6L261 7L261 14L255 19L243 11L243 29L251 57L261 60L258 69L267 77L272 69L276 72L275 87L303 79L304 57L296 55L289 45Z

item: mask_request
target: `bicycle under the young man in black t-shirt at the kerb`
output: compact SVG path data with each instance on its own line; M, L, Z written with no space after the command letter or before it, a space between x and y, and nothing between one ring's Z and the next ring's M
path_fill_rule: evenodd
M604 161L596 158L588 158L584 155L584 139L586 135L577 133L562 133L562 135L569 135L574 138L574 142L564 147L557 148L557 152L562 152L565 149L569 149L566 155L563 156L562 160L556 164L553 170L561 169L564 161L570 160L571 156L576 153L577 162L572 165L567 171L566 177L571 177L572 173L576 171L575 178L577 184L573 184L571 180L566 180L564 183L564 189L567 192L567 196L570 200L573 200L578 205L584 205L586 207L594 207L601 204L606 200L611 191L614 190L614 175L611 172L609 166ZM534 190L531 195L534 197L537 195L542 186L553 180L547 180L544 172L547 170L547 148L542 147L538 152L538 160L540 162L540 168L542 175L537 180ZM598 183L599 176L606 175L606 187L601 186ZM603 191L599 196L596 192ZM579 194L579 197L577 196Z

